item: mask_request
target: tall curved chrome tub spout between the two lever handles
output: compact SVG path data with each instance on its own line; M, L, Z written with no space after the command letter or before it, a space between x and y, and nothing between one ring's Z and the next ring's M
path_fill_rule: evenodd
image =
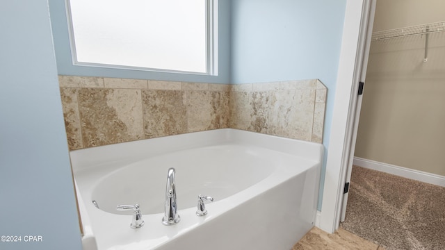
M165 212L162 224L170 226L177 224L181 217L177 214L176 190L175 190L175 169L168 169L167 187L165 188Z

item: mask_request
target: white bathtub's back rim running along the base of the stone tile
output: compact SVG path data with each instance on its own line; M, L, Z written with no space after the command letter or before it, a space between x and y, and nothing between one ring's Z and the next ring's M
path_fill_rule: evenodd
M197 136L202 135L202 136ZM198 138L198 139L196 139ZM181 143L172 143L173 140L181 139ZM193 141L191 141L193 139ZM272 144L269 142L277 142ZM305 158L320 159L323 157L323 144L317 142L307 142L304 140L279 137L277 135L267 135L252 131L244 131L236 128L219 128L210 131L197 131L179 135L168 135L159 138L149 138L131 142L121 142L117 144L108 144L86 149L76 149L70 151L71 164L74 174L83 171L86 168L100 167L104 162L118 163L120 160L129 158L140 160L147 156L155 156L167 151L179 151L182 149L192 149L196 147L206 147L218 145L224 142L239 142L240 144L261 144L261 147L273 151L281 151L293 154L295 142L298 142L300 155ZM156 144L156 147L153 145ZM145 147L149 147L148 152ZM163 150L165 148L168 150ZM135 150L136 149L136 150ZM111 153L110 153L111 151Z

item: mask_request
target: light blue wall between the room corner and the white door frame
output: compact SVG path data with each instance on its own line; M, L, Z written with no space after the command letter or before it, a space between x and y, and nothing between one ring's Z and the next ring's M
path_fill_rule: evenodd
M232 1L231 83L320 79L327 87L321 210L346 0Z

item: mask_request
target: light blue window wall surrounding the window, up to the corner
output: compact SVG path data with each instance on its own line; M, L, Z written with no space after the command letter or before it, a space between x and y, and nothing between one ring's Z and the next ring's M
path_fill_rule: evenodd
M218 76L203 76L195 74L169 74L142 70L74 66L72 65L65 1L49 0L58 74L71 76L106 76L115 78L151 79L161 81L189 81L197 83L230 83L230 2L231 1L227 0L218 1Z

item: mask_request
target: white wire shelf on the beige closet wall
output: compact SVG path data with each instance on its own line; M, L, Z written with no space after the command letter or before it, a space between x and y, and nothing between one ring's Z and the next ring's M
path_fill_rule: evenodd
M387 31L374 32L371 41L387 40L391 38L401 38L410 35L424 35L445 31L445 21L432 24L422 24L405 28L395 28Z

